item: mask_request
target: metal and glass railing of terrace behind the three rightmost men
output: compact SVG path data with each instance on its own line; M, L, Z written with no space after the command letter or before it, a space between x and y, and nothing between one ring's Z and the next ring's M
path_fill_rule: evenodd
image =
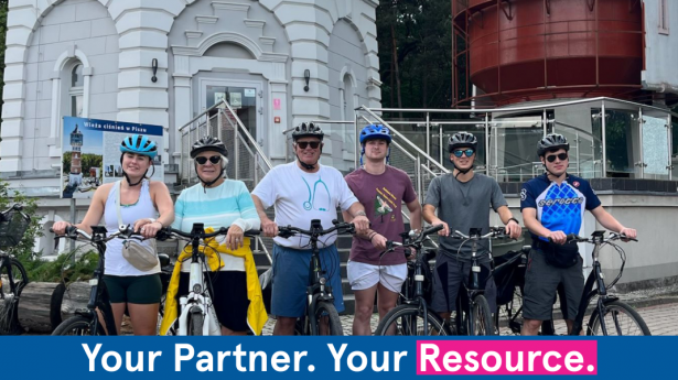
M632 113L633 124L620 126L618 120L613 123L611 113L615 112ZM385 113L388 117L385 117ZM400 118L391 120L396 115ZM605 117L601 117L602 115ZM653 116L654 126L647 122L647 115ZM536 162L538 139L557 132L570 140L572 174L585 178L623 174L633 178L671 180L675 170L671 161L671 117L676 118L678 113L628 100L598 97L487 109L398 109L363 106L356 109L355 123L356 134L358 120L388 126L394 135L400 139L401 145L413 155L420 156L422 163L435 174L442 172L441 167L449 165L446 139L455 132L467 131L480 140L476 171L484 171L499 182L529 180L542 173L541 163ZM657 127L658 120L666 127L661 131ZM419 132L422 129L423 133ZM620 134L628 134L628 139L639 141L633 149L624 146L631 163L625 172L614 167L614 160L625 159L620 159L620 142L609 141L614 135L618 140ZM652 137L652 143L644 143L644 137ZM609 146L609 143L617 145ZM657 153L657 148L660 153ZM613 151L615 155L609 156ZM357 165L357 154L355 161ZM652 173L647 170L650 162L654 163L650 165L654 167Z

